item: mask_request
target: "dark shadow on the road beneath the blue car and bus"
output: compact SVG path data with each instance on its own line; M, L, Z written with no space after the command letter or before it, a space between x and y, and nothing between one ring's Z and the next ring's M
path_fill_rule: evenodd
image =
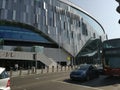
M120 77L107 77L107 76L100 76L99 78L90 80L90 81L72 81L70 79L64 80L64 82L90 86L90 87L101 87L101 86L108 86L108 85L117 85L120 84Z

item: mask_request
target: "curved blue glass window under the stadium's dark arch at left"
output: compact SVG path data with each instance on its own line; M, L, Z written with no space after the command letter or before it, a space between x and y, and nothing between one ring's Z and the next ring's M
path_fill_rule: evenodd
M0 38L9 40L50 43L38 33L32 32L28 29L11 26L0 26Z

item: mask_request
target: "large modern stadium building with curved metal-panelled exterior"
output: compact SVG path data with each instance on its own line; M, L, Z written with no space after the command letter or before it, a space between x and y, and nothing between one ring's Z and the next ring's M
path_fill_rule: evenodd
M0 66L79 64L106 39L101 24L67 0L0 0Z

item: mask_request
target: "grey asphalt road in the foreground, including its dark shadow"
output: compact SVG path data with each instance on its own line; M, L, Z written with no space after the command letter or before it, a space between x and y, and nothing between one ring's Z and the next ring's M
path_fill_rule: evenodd
M71 81L69 72L11 78L12 90L120 90L120 77L100 76L80 82Z

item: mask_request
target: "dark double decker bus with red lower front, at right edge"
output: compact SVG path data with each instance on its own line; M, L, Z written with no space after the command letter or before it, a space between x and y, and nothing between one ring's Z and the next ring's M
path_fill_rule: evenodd
M105 75L120 76L120 38L103 42L102 63Z

